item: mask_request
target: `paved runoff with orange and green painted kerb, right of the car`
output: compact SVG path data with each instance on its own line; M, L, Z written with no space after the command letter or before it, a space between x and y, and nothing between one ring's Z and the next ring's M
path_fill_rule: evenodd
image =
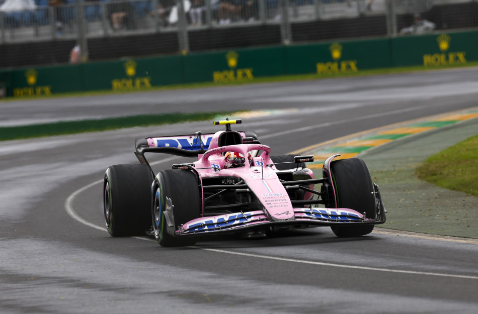
M418 179L415 169L429 156L476 134L478 108L362 132L335 143L294 153L313 154L316 176L324 160L362 158L380 187L388 210L387 229L432 235L478 238L476 197Z

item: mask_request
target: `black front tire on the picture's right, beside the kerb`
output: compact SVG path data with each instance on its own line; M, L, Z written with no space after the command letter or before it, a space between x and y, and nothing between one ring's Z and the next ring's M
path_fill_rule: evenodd
M375 194L372 178L362 159L332 161L331 171L337 197L337 208L351 208L367 218L376 219ZM372 232L374 225L331 227L341 238L360 237Z

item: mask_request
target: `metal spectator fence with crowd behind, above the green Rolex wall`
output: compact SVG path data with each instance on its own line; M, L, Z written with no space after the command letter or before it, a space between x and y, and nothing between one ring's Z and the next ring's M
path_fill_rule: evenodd
M477 27L475 0L0 0L0 67Z

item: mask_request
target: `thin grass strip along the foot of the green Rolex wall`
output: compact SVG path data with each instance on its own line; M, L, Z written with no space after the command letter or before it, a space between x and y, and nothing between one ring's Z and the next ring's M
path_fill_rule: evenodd
M439 67L426 67L423 65L419 65L419 66L359 70L358 72L352 72L352 73L337 73L337 74L323 74L323 75L310 73L310 74L255 77L253 80L236 81L232 83L201 82L201 83L189 83L189 84L176 84L176 85L154 86L152 88L136 89L134 91L113 91L113 90L106 89L106 90L93 90L93 91L84 91L84 92L54 93L48 96L43 95L43 96L19 97L19 98L9 97L9 98L0 99L0 102L17 101L17 100L23 101L25 99L38 99L38 98L77 97L77 96L92 96L92 95L94 96L94 95L105 95L105 94L158 91L158 90L192 89L192 88L217 87L217 86L235 86L235 85L245 85L245 84L255 84L255 83L267 83L267 82L317 80L317 79L336 78L336 77L339 78L339 77L354 77L354 76L370 76L370 75L379 75L379 74L407 73L407 72L415 72L415 71L433 71L433 70L440 70L440 69L446 69L446 68L471 67L471 66L478 66L478 61L468 62L462 65L444 65Z

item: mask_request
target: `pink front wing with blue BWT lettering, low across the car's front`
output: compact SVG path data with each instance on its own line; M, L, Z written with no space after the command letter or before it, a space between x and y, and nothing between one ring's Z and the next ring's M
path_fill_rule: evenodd
M385 208L381 205L377 219L368 219L363 214L349 208L293 208L294 219L272 221L264 211L240 212L234 214L204 217L178 226L176 236L212 235L217 233L235 233L274 226L344 226L378 225L385 222Z

